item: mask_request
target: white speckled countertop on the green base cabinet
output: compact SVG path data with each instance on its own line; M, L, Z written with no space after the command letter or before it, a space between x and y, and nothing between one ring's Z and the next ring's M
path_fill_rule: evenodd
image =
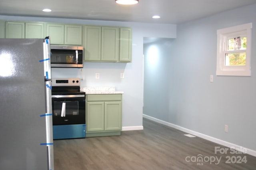
M111 87L80 87L85 94L124 94L122 91L116 91L114 86Z

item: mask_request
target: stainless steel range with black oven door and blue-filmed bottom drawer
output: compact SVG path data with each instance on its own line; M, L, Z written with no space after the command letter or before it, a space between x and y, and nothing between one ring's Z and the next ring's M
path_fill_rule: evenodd
M85 122L80 78L52 78L53 139L85 138Z

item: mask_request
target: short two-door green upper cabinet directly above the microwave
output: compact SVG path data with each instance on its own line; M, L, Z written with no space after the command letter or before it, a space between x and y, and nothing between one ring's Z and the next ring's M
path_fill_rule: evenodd
M82 45L82 26L64 24L46 24L46 34L51 44Z

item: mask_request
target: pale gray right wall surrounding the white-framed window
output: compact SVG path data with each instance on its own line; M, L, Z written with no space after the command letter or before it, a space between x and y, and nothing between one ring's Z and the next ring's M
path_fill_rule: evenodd
M159 69L164 70L157 71L162 74L152 76L159 88L165 88L160 90L162 95L156 98L160 98L163 107L158 105L155 108L155 100L148 100L156 94L144 94L144 114L256 150L255 16L256 4L177 25L176 40L169 50L163 50L161 56L162 61L169 61L169 68L163 62ZM216 76L216 30L250 22L253 25L252 76ZM162 77L166 77L164 71L169 71L169 79ZM147 73L144 74L147 80ZM212 83L211 74L214 75ZM166 84L169 86L166 87ZM161 96L166 99L165 90L168 91L167 112L166 103L161 99ZM228 133L224 132L224 125L228 125Z

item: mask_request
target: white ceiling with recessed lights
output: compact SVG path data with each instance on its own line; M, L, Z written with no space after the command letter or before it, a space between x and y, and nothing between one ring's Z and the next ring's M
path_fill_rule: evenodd
M254 3L256 0L139 0L124 6L115 0L0 0L0 15L179 24ZM44 8L52 12L42 12ZM161 18L153 19L153 15Z

